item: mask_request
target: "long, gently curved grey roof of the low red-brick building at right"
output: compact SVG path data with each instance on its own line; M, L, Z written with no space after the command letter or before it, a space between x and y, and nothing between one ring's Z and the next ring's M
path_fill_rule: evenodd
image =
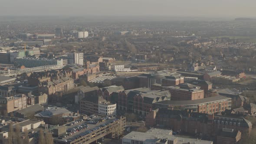
M213 101L222 101L222 100L227 100L231 98L225 97L225 96L214 96L214 97L209 97L209 98L202 98L202 99L197 99L193 101L172 101L172 100L166 100L166 101L160 101L156 102L157 104L161 105L200 105L204 104L207 102L213 102Z

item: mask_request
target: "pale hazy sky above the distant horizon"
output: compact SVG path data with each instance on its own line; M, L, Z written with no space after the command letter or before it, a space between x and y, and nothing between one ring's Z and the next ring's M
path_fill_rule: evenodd
M256 0L0 0L0 15L256 17Z

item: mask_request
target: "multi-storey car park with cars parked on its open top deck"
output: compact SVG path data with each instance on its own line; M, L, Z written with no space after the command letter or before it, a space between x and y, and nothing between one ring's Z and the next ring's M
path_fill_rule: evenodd
M90 144L102 138L116 138L125 130L124 116L98 117L92 116L86 121L66 124L67 134L55 138L55 144Z

